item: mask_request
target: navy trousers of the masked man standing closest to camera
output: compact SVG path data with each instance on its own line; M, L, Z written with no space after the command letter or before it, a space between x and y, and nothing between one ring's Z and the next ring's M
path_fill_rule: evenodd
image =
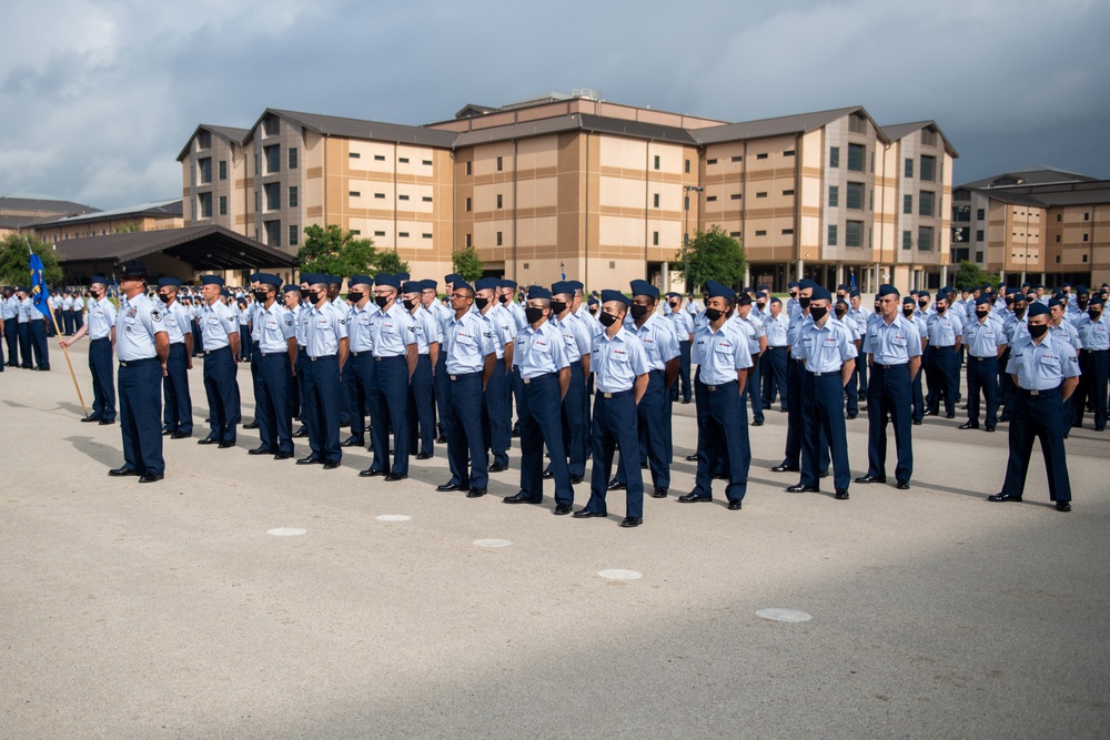
M632 391L606 398L594 396L594 470L589 477L589 500L584 511L608 513L605 493L613 472L613 455L620 450L620 472L625 480L625 516L644 516L644 477L639 472L639 440L636 437L636 399Z

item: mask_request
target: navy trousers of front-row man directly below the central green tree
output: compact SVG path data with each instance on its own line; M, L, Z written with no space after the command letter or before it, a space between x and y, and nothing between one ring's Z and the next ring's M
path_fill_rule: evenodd
M751 445L748 439L748 413L744 396L737 391L736 381L710 386L695 384L697 404L697 474L694 493L713 495L713 478L718 464L725 460L728 475L725 496L728 500L743 500L748 491L748 470L751 467Z

